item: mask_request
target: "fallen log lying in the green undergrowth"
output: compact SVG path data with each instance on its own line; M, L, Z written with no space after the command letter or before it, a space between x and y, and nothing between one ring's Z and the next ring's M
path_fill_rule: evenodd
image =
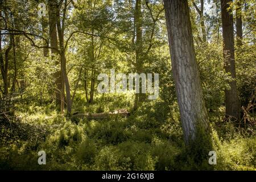
M107 119L112 116L128 117L130 112L126 109L118 109L107 113L86 113L86 114L75 114L72 118L88 118L88 119Z

